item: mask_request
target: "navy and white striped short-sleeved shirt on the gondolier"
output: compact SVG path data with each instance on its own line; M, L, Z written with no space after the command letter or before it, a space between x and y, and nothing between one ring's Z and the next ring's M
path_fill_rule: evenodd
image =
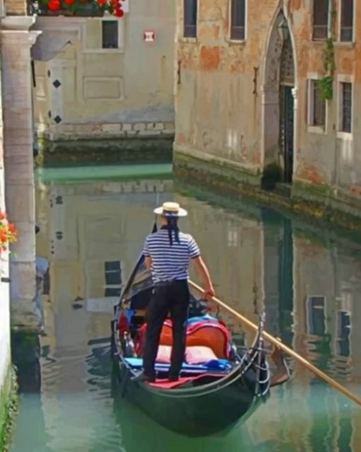
M188 279L190 259L200 256L195 239L190 234L179 231L179 243L173 233L173 243L169 243L167 229L151 233L144 242L143 255L151 257L153 282Z

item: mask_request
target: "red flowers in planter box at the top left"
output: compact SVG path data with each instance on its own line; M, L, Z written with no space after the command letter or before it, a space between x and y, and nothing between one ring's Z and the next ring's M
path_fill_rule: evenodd
M44 8L49 11L67 11L71 14L86 9L86 7L104 13L107 11L114 16L124 16L124 10L122 9L122 3L125 0L39 0L33 1L33 8L35 11L43 10Z

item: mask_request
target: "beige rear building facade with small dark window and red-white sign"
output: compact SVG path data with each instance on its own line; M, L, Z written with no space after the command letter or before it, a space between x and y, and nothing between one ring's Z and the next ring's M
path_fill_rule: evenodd
M35 28L42 37L33 51L38 137L173 141L175 5L125 4L122 18L38 16Z

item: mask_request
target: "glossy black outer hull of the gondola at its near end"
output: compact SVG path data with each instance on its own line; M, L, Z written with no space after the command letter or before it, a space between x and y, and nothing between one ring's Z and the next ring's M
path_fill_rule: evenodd
M121 359L115 371L121 397L163 427L185 436L208 436L230 429L248 419L264 400L253 395L253 375L242 375L241 371L231 373L217 386L199 390L158 390L148 383L134 382Z

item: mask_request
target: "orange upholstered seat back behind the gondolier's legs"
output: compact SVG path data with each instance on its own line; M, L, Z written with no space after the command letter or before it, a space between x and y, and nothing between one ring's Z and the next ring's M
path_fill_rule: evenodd
M170 325L163 325L161 330L161 345L173 345L172 328ZM227 350L227 337L224 332L212 326L204 326L197 330L187 332L187 347L203 346L213 350L217 358L225 359Z

